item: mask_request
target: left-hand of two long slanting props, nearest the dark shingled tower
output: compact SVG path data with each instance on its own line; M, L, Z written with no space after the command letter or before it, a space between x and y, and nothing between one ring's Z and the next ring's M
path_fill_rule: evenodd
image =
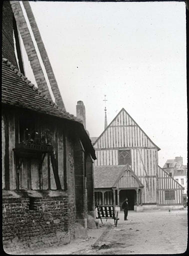
M36 84L39 90L41 90L42 94L45 94L48 97L48 99L52 101L20 3L19 1L10 1L10 4L12 7L12 11L16 20L18 30L23 40L28 60L30 61L30 65L35 77Z

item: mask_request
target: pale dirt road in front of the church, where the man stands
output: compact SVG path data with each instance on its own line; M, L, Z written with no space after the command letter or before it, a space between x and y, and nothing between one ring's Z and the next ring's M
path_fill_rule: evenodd
M186 209L129 211L127 221L120 212L119 218L117 227L106 230L93 249L73 254L174 254L186 250Z

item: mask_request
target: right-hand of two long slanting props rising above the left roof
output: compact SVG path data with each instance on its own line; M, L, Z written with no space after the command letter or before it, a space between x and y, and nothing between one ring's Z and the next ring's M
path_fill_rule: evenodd
M33 35L34 35L35 41L37 43L37 47L38 47L41 59L42 59L42 62L44 64L44 67L45 67L45 70L46 70L46 73L47 73L47 76L48 76L50 87L52 89L52 93L53 93L54 98L55 98L55 103L62 109L62 111L65 111L65 106L64 106L64 103L63 103L63 100L62 100L62 97L61 97L61 94L60 94L60 91L59 91L59 88L58 88L58 85L57 85L57 82L56 82L56 79L55 79L55 76L54 76L54 73L53 73L53 70L52 70L52 67L51 67L47 52L46 52L46 49L44 47L44 43L43 43L42 38L40 36L38 26L36 24L33 12L31 10L30 4L29 4L28 1L22 1L22 3L23 3L23 6L25 8L25 11L27 13L27 17L28 17L31 29L32 29L32 32L33 32Z

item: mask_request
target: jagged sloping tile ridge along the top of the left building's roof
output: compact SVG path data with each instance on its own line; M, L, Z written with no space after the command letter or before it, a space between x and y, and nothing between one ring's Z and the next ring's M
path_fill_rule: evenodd
M29 85L34 91L36 91L42 98L44 98L50 105L52 105L53 107L57 108L60 112L62 112L63 114L67 115L68 117L74 119L75 121L81 122L82 120L79 119L78 117L74 116L73 114L70 114L67 111L62 111L62 109L56 105L56 103L54 103L52 100L49 100L47 95L45 93L43 93L38 87L36 87L24 74L22 74L17 68L16 66L14 66L10 61L8 61L8 59L2 57L2 62L5 63L8 67L10 67L10 69L16 73L17 76L19 76L27 85Z

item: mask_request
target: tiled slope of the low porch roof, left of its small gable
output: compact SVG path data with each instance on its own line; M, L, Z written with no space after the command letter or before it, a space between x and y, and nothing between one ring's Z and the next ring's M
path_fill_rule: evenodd
M94 166L94 188L112 187L125 165Z

